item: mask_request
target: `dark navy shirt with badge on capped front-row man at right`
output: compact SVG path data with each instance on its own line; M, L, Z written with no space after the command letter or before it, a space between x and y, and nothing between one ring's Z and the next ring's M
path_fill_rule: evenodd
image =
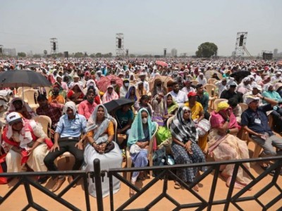
M269 136L273 135L273 132L271 131L269 127L269 120L266 115L266 111L272 110L271 104L267 104L265 106L259 106L256 111L247 108L242 115L241 115L241 125L242 126L247 126L252 131L259 133L259 134L264 134L267 132ZM255 121L258 119L259 121ZM260 124L259 124L260 122Z

